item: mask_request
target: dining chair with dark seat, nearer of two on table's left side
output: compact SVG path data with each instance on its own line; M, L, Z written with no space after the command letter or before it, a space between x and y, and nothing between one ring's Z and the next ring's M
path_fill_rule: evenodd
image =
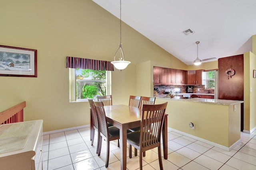
M100 156L100 151L101 151L101 146L102 146L102 138L104 138L107 143L107 156L106 156L106 165L105 165L105 167L107 168L108 161L109 161L110 141L114 141L114 140L118 139L118 147L119 147L120 131L115 126L108 127L103 102L102 101L94 101L94 105L96 107L96 112L97 112L98 121L99 121L99 129L100 129L98 156Z

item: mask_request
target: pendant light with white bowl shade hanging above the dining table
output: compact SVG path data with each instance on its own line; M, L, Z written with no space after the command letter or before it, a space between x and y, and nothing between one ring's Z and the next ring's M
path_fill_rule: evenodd
M120 51L120 58L119 61L116 61L116 54L114 56L114 61L111 62L111 64L113 64L118 70L122 71L124 70L124 68L126 68L128 66L128 64L130 64L130 61L124 61L124 51L122 49L122 27L121 27L121 0L120 0L120 44L119 44L119 48L116 51L116 53L118 51Z

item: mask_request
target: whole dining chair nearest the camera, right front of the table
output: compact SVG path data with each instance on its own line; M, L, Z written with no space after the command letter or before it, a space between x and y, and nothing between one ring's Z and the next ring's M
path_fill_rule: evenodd
M146 105L142 107L140 131L127 134L129 158L132 158L132 146L140 150L140 170L142 170L142 152L158 147L160 170L163 170L161 155L161 132L167 103Z

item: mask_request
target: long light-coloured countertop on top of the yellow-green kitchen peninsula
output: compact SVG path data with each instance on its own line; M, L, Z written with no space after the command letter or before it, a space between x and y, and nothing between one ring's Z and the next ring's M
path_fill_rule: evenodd
M191 98L191 99L177 99L177 98L165 98L156 96L158 99L164 100L178 100L182 102L199 102L199 103L206 103L206 104L218 104L218 105L236 105L244 103L244 101L239 100L221 100L221 99L204 99L204 98Z

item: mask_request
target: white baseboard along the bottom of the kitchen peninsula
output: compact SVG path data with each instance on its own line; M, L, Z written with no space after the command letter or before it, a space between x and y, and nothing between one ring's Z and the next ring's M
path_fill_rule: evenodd
M190 135L190 134L188 134L188 133L184 133L184 132L182 132L182 131L178 131L178 130L176 130L176 129L172 129L172 128L170 128L170 127L168 127L168 130L174 131L174 132L177 132L177 133L180 133L180 134L182 134L182 135L186 135L186 136L188 136L188 137L190 137L190 138L192 138L192 139L196 139L196 140L198 140L198 141L207 143L207 144L209 144L209 145L212 145L212 146L214 146L214 147L218 147L218 148L220 148L220 149L227 150L227 151L232 150L234 147L236 147L236 145L238 145L238 144L241 142L241 139L239 139L238 141L236 141L236 142L235 142L233 145L231 145L230 147L225 147L225 146L220 145L220 144L218 144L218 143L214 143L214 142L211 142L211 141L207 141L206 139L202 139L202 138L200 138L200 137L196 137L196 136Z

